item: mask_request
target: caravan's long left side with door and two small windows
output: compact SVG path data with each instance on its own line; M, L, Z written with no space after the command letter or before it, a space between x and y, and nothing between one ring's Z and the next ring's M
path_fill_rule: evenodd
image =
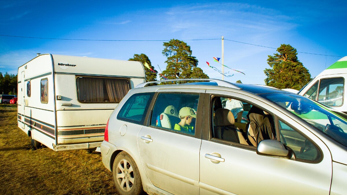
M51 56L38 56L19 67L18 72L18 127L53 148L56 135Z

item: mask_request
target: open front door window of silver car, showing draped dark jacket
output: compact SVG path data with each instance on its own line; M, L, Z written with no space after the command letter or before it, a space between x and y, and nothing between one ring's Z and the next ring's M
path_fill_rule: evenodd
M273 117L260 108L232 97L212 98L212 137L257 146L263 139L276 139Z

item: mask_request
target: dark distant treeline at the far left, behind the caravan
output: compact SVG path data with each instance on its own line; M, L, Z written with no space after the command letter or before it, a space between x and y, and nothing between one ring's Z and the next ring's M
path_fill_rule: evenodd
M17 95L17 75L0 72L0 94Z

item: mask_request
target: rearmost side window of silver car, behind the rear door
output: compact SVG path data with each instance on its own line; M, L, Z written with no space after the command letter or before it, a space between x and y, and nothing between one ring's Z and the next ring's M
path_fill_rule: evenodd
M130 96L120 109L117 119L143 125L153 95L154 93L137 93Z

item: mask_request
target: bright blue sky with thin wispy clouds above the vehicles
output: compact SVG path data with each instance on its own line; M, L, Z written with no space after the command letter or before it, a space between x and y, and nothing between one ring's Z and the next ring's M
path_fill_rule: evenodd
M212 57L221 57L224 41L229 82L264 84L268 55L280 44L297 49L312 77L347 56L346 1L0 1L0 35L91 40L193 40L193 56L210 78L221 75ZM271 48L243 44L262 45ZM167 42L167 41L166 41ZM36 56L52 53L128 60L146 54L158 71L166 68L163 41L77 41L0 36L0 72ZM329 56L306 53L327 54ZM341 57L336 57L341 56ZM227 71L227 69L225 69Z

